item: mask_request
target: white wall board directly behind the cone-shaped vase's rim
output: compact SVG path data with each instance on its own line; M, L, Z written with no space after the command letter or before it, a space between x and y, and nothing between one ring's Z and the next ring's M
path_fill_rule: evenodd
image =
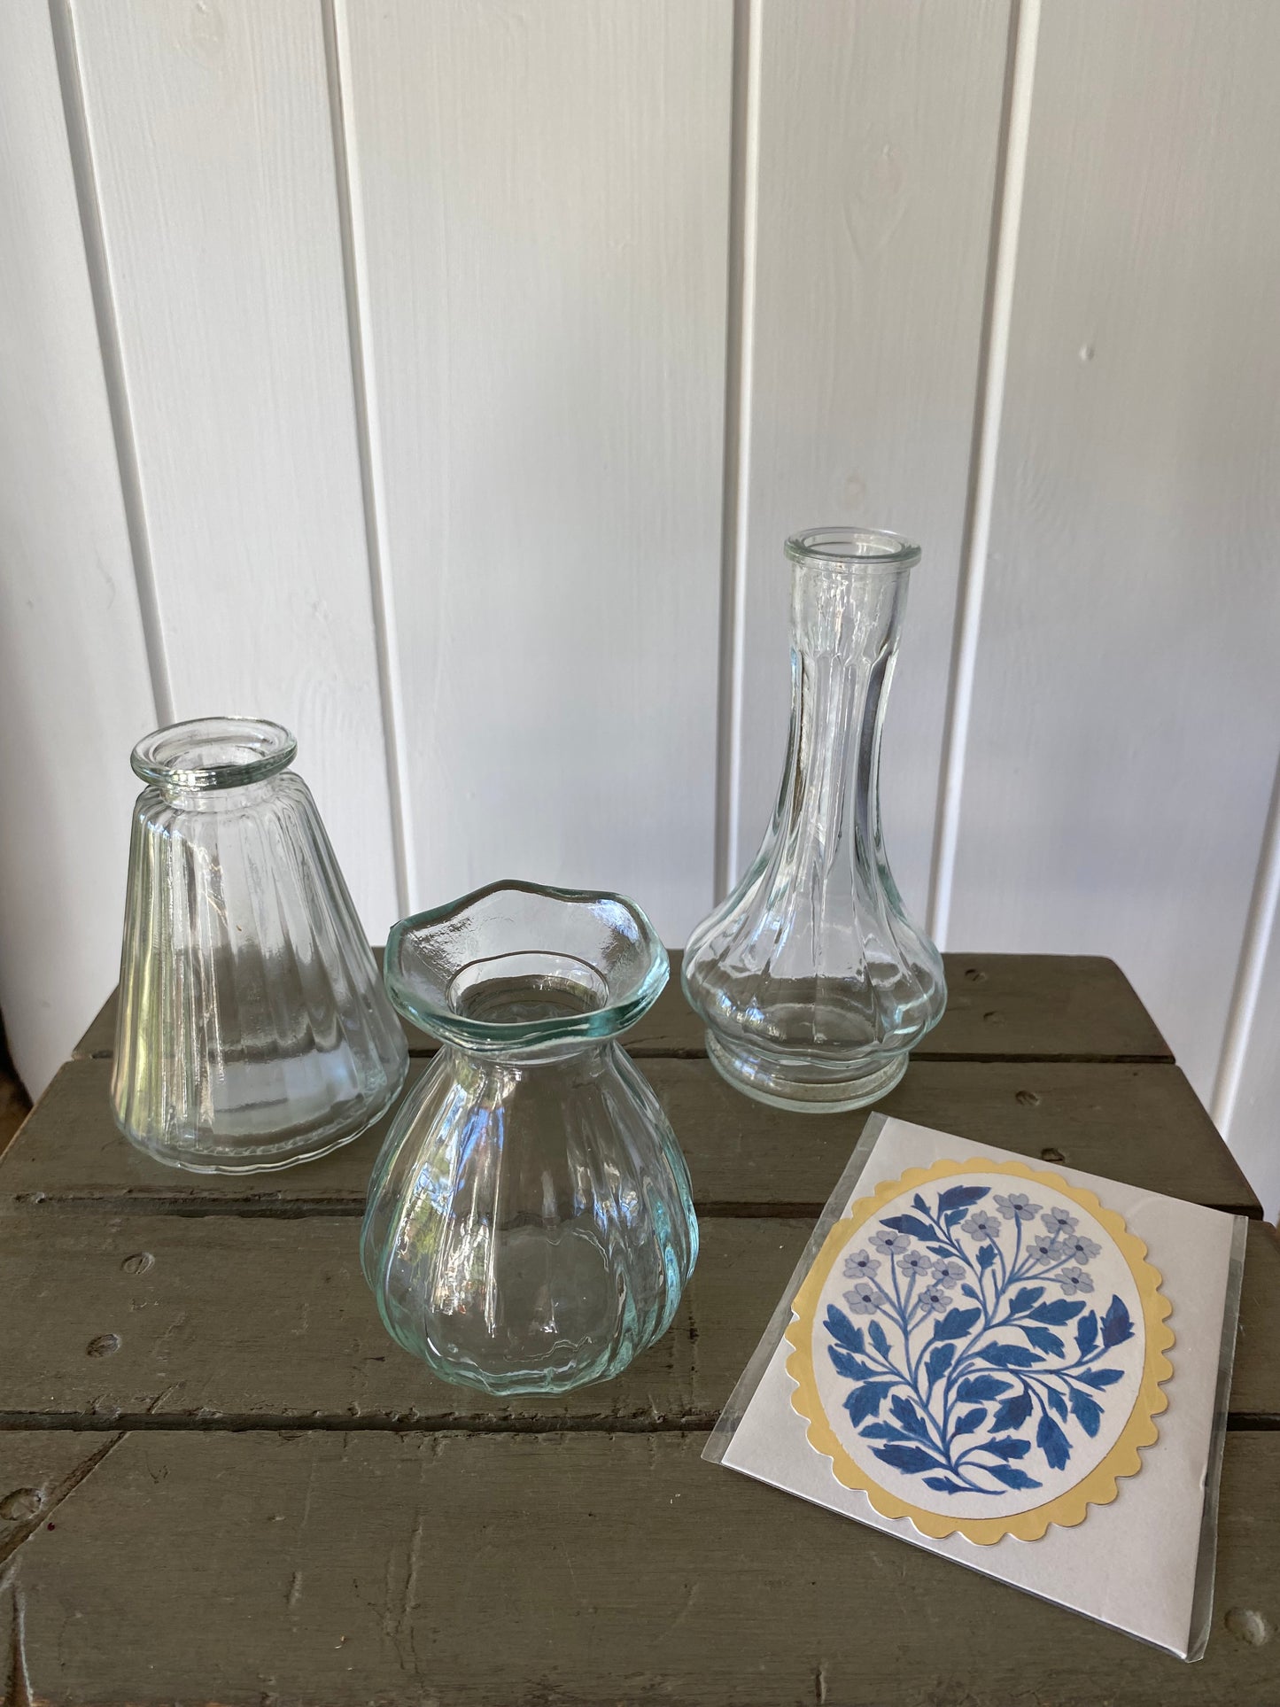
M381 934L396 886L321 10L72 17L176 715L297 732Z

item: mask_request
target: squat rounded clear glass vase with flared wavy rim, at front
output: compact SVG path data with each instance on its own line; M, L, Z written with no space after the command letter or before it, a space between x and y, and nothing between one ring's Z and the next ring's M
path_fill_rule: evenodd
M684 1157L618 1045L667 982L652 925L614 894L493 884L396 925L386 982L445 1046L369 1185L382 1321L486 1393L618 1374L698 1255Z

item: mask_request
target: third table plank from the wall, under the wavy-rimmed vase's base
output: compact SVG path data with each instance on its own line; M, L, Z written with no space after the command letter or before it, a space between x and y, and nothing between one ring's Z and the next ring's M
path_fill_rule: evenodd
M669 1333L614 1381L493 1400L384 1331L350 1217L19 1212L0 1221L0 1425L707 1427L811 1221L707 1221ZM1280 1427L1280 1251L1254 1224L1232 1415Z

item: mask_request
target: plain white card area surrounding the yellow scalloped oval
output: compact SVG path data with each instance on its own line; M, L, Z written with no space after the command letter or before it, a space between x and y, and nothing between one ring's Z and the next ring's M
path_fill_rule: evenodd
M980 1156L1026 1161L1010 1151L887 1118L835 1219L855 1198L908 1168ZM1096 1191L1125 1217L1130 1231L1147 1243L1149 1258L1164 1277L1161 1290L1172 1304L1174 1343L1167 1357L1174 1374L1164 1383L1169 1407L1155 1419L1159 1441L1143 1449L1138 1475L1120 1480L1120 1494L1109 1506L1091 1506L1082 1524L1051 1526L1039 1541L1005 1536L992 1547L959 1535L935 1541L920 1535L910 1518L882 1518L865 1494L841 1487L831 1459L809 1444L806 1420L790 1403L795 1383L787 1374L792 1347L785 1338L775 1345L729 1444L724 1451L713 1444L708 1456L1188 1657L1237 1217L1073 1168L1043 1166ZM783 1316L783 1328L788 1320L790 1314ZM1234 1333L1234 1320L1231 1326ZM736 1410L732 1401L730 1410Z

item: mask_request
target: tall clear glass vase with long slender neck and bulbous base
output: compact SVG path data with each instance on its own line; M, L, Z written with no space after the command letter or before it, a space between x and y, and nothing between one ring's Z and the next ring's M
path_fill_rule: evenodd
M683 983L707 1052L778 1108L874 1103L942 1017L942 959L903 910L881 836L879 763L920 548L821 527L787 541L792 719L782 789L742 881L693 932Z

